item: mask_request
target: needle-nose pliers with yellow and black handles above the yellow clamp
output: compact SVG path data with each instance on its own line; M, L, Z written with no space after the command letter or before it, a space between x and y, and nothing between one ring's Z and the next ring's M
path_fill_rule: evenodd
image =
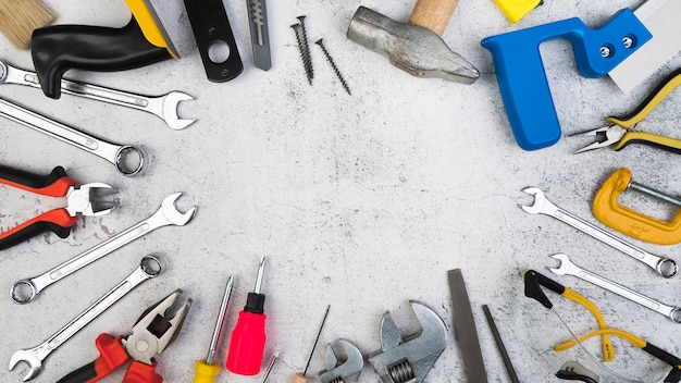
M573 136L596 136L597 141L587 145L573 155L583 151L612 146L618 151L629 144L644 144L654 146L673 153L681 155L681 139L665 137L647 132L632 132L630 128L640 123L679 85L681 85L681 69L676 70L660 82L655 89L631 113L622 116L609 116L606 121L609 126L598 127L593 131L578 133Z

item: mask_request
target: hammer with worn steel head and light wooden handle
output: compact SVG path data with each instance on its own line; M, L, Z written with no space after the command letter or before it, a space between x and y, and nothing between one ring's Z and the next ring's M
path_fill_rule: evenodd
M347 37L388 58L391 63L417 77L441 77L473 84L480 73L442 39L459 0L418 0L409 24L360 7Z

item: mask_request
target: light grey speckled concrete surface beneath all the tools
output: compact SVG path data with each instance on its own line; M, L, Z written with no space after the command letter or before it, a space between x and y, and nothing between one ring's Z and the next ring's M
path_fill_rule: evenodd
M47 1L57 23L122 26L129 17L123 1ZM106 161L8 120L0 122L0 163L47 174L64 166L79 183L104 182L120 189L120 209L81 220L72 235L46 234L0 255L2 285L36 276L121 233L153 213L168 195L183 192L178 208L198 207L184 227L163 227L47 288L24 306L0 299L0 360L33 347L83 311L125 277L147 254L168 261L165 272L146 282L73 336L45 362L35 382L54 382L97 357L95 337L125 334L141 311L175 288L194 305L179 337L160 358L166 382L187 382L194 362L203 358L224 284L236 285L218 350L224 362L237 312L252 289L258 262L268 256L268 343L263 367L274 351L281 358L270 382L289 382L305 368L321 318L331 311L309 374L323 370L323 350L333 339L356 343L369 355L380 349L379 324L391 310L405 333L417 330L408 301L437 312L448 329L448 345L426 382L465 381L461 350L454 337L447 270L463 271L492 382L508 382L482 305L488 305L522 382L558 381L554 373L568 360L592 366L583 351L552 347L571 336L559 319L523 296L521 273L535 269L592 299L607 323L681 355L679 328L669 319L572 276L550 274L548 258L569 255L578 264L607 275L663 302L678 301L678 279L653 270L584 234L519 206L538 186L566 210L602 226L591 201L617 169L629 168L636 182L677 194L681 189L678 155L645 146L573 156L589 138L565 137L604 124L637 104L656 81L679 64L672 60L649 83L626 96L604 77L578 74L570 46L541 46L564 138L537 151L523 151L511 135L492 59L480 47L484 37L572 16L598 26L618 10L641 1L545 1L517 25L493 1L461 1L444 39L480 71L466 86L409 76L381 55L347 40L345 32L359 5L406 21L413 1L271 1L268 3L273 66L252 65L246 4L226 3L245 71L232 82L206 79L189 23L179 1L157 3L157 11L182 59L116 73L70 71L67 78L138 94L171 90L196 97L179 107L198 121L172 131L156 116L76 97L49 100L37 89L4 85L11 99L84 132L148 151L144 174L123 177ZM160 4L159 4L160 3ZM310 40L324 38L352 90L348 96L312 46L315 77L307 83L290 25L307 15ZM0 40L9 63L30 70L27 51ZM672 137L678 129L673 92L641 128ZM0 226L7 230L51 203L2 188ZM648 214L670 219L676 209L639 194L624 201ZM620 235L621 236L621 235ZM679 259L679 246L639 243L648 251ZM587 311L557 295L555 310L577 334L596 330ZM659 382L669 367L619 338L611 370L643 382ZM599 341L584 346L598 359ZM5 365L7 366L7 365ZM21 381L22 368L0 369L0 381ZM103 382L119 382L123 371ZM256 382L223 371L216 382ZM369 365L360 382L377 382ZM608 380L605 375L602 381ZM621 380L620 380L621 381Z

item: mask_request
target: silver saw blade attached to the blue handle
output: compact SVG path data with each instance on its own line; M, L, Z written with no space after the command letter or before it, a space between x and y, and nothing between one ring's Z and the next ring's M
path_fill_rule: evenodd
M634 11L653 38L612 71L610 78L629 94L681 51L681 1L648 0Z

